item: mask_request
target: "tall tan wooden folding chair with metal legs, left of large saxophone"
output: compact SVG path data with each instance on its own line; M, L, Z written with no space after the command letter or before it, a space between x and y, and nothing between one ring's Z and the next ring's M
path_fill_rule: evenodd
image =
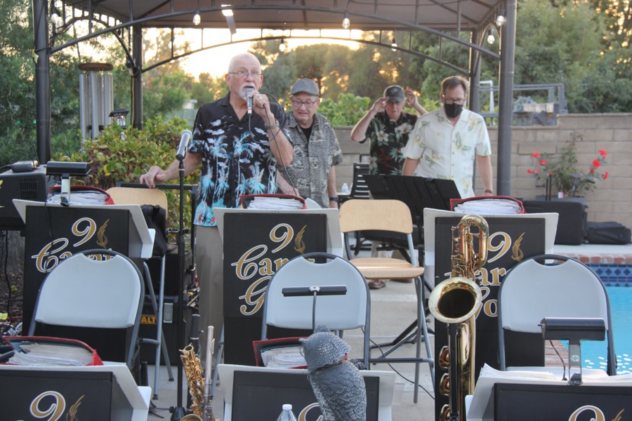
M434 380L434 361L428 340L428 327L426 326L426 314L423 312L423 282L421 276L423 267L417 263L416 249L412 240L413 223L408 206L398 200L348 200L340 208L340 227L345 236L345 248L347 255L351 259L348 236L351 232L362 230L376 230L392 234L400 238L405 237L408 244L407 251L410 262L393 258L353 258L350 262L357 267L365 279L414 279L415 292L417 295L417 320L416 332L406 338L403 342L393 344L393 348L385 355L376 359L370 359L373 363L386 362L414 362L415 363L415 391L414 401L417 401L419 394L419 364L428 363L430 373ZM421 338L426 342L427 358L421 357ZM409 342L417 335L416 355L414 359L387 358L390 352L400 347L403 343Z

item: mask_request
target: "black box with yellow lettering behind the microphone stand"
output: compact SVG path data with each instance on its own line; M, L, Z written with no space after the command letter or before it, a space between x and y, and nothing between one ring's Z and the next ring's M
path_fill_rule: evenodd
M188 345L188 338L191 331L191 315L192 310L187 307L187 296L185 295L185 302L183 308L184 317L184 330L185 330L185 344ZM156 300L158 298L156 297ZM166 347L169 350L169 361L172 366L176 366L180 359L180 345L178 345L178 325L176 319L176 312L178 305L178 295L165 295L162 314L162 331L164 333L164 339L166 341ZM145 295L145 304L143 305L143 315L140 316L140 330L138 331L139 338L156 339L157 331L157 318L154 314L152 302L149 295ZM161 350L161 363L164 365L164 357ZM156 347L152 344L142 343L140 344L140 361L146 361L148 364L154 364L156 361Z

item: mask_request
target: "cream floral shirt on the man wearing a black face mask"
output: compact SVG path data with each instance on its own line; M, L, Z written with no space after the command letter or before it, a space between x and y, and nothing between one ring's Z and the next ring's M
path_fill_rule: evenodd
M419 159L415 175L454 180L462 198L474 196L472 178L475 156L492 154L482 116L463 109L456 125L443 107L421 116L404 156Z

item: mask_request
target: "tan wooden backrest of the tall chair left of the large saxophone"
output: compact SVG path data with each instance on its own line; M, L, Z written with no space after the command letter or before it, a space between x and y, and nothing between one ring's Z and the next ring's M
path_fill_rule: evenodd
M343 233L377 229L411 234L412 216L406 203L399 200L348 200L340 208Z

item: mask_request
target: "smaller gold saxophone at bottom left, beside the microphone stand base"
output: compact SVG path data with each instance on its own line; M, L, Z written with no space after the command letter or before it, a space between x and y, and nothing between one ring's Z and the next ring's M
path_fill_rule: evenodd
M193 351L193 345L189 344L185 349L180 349L180 358L182 359L182 366L187 376L187 385L189 386L189 393L191 394L191 409L192 414L185 415L180 418L181 421L220 421L216 420L213 416L213 403L211 399L205 399L207 394L204 394L204 370L202 370L202 363ZM208 358L211 358L209 355ZM207 373L210 375L210 373ZM205 401L206 400L206 401Z

